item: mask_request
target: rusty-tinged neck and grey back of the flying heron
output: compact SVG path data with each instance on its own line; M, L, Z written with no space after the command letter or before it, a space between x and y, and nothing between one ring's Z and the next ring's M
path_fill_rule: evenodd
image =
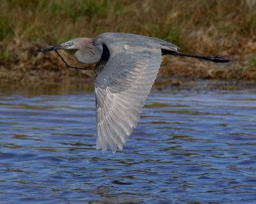
M86 39L86 41L83 41L84 39ZM152 49L178 51L177 46L164 40L129 33L103 33L96 38L76 38L76 40L79 41L79 45L84 46L77 50L75 57L77 61L84 64L102 61L102 54L106 47L115 48L115 53L123 52L129 47L140 47L140 50L143 52L147 50L152 52ZM102 45L106 45L106 47Z

